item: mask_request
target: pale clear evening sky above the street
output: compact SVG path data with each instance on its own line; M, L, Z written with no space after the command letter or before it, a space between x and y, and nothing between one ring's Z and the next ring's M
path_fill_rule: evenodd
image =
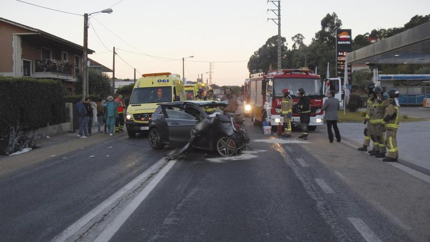
M266 40L278 34L278 26L267 21L276 8L266 0L24 0L48 8L83 15L111 7L112 14L90 16L88 57L112 67L115 77L172 72L195 81L209 71L214 62L212 83L219 86L243 84L248 78L249 57ZM430 14L428 0L281 0L281 35L288 47L291 37L301 33L309 44L321 29L327 13L336 12L343 28L352 36L374 28L401 27L416 14ZM16 0L0 0L0 17L38 28L76 44L83 45L84 17L56 12ZM149 56L150 55L150 56ZM159 58L161 57L161 58ZM124 60L121 60L121 58ZM301 66L295 66L301 67ZM209 74L203 74L203 80Z

